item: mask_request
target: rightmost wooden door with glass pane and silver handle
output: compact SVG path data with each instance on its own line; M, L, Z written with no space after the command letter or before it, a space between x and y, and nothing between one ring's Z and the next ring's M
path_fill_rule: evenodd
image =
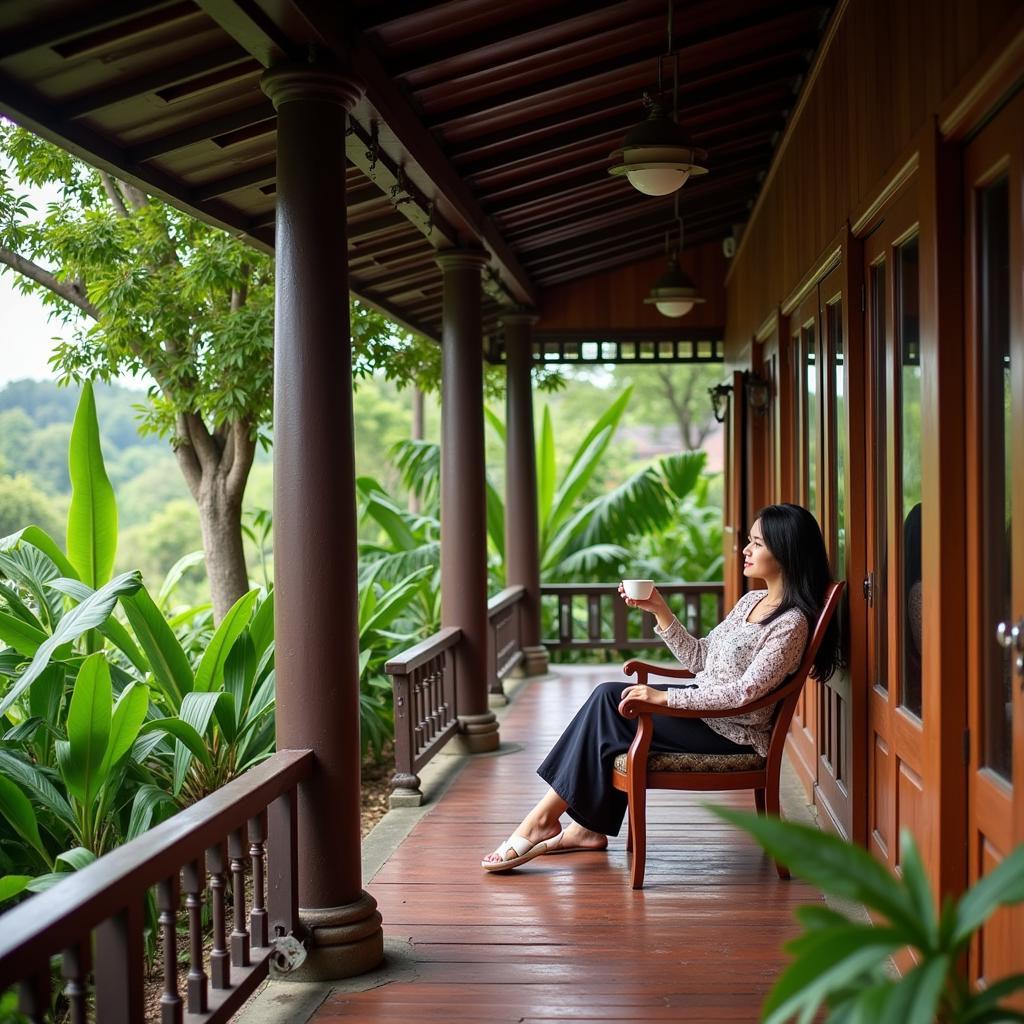
M968 870L1024 842L1024 93L966 147ZM996 630L1002 624L1002 634ZM1016 625L1018 637L1009 631ZM982 983L1024 971L1024 910L972 947Z

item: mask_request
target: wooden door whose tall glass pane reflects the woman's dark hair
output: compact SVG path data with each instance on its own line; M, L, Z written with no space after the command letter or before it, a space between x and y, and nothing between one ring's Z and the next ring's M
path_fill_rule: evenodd
M922 836L921 345L918 193L911 180L864 242L867 444L867 841L899 866ZM923 580L923 577L925 578Z

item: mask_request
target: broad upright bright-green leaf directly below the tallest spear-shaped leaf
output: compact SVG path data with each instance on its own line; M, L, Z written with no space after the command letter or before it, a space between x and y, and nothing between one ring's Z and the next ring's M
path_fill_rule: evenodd
M111 738L114 689L101 652L82 663L68 709L68 771L65 782L84 807L91 807L105 778L103 759Z

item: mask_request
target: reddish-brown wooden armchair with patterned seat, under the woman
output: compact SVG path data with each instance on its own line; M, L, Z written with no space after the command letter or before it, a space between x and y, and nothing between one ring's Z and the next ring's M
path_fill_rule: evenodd
M643 888L647 855L647 791L648 790L753 790L759 814L778 814L778 779L782 768L785 735L796 711L800 691L814 665L814 657L821 646L825 630L831 621L843 593L844 584L829 584L824 606L811 634L803 660L797 671L766 696L740 708L726 711L697 711L683 708L666 708L646 700L626 699L618 706L620 714L637 720L637 734L627 754L615 759L611 782L622 790L629 801L629 835L627 850L633 851L632 883L634 889ZM691 679L693 673L686 669L663 669L644 662L631 660L623 667L628 676L635 675L637 683L645 685L650 676L669 679ZM672 715L678 718L730 718L745 715L759 708L775 705L768 757L758 754L650 754L654 733L653 715ZM780 879L788 879L784 864L775 862Z

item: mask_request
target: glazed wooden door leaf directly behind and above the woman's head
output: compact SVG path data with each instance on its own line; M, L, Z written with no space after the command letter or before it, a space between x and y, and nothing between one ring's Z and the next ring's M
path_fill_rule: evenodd
M819 385L819 311L818 290L808 296L790 314L788 364L793 393L793 444L791 459L795 468L793 501L810 509L821 521L821 403ZM818 782L817 684L809 680L800 695L790 728L790 750L794 767L808 797L814 799Z

